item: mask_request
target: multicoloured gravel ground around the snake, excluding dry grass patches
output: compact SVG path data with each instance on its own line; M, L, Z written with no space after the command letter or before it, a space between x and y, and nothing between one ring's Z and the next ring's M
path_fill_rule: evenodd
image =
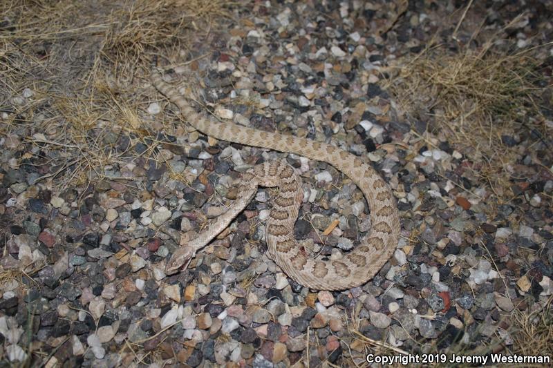
M504 35L520 49L552 39L551 2L529 3ZM431 119L409 119L384 88L390 66L432 37L453 50L452 35L468 42L471 27L501 30L525 10L489 1L457 23L465 9L462 1L254 2L247 21L194 39L181 56L191 62L166 72L178 86L194 81L203 108L221 118L330 142L384 176L402 237L373 280L342 292L301 287L265 255L266 188L186 271L164 272L181 239L236 197L240 172L279 158L305 185L297 238L315 255L346 253L371 224L362 193L332 166L187 130L145 75L136 116L153 130L167 120L178 128L148 140L97 119L86 134L117 159L106 153L90 184L60 185L59 175L75 170L66 157L77 148L37 128L59 119L27 108L48 97L32 84L10 93L0 106L5 365L359 367L369 353L520 354L516 316L547 314L553 293L553 162L543 155L550 137L502 137L518 156L509 163L514 195L500 200L473 175L469 152L444 140ZM545 85L550 50L536 54Z

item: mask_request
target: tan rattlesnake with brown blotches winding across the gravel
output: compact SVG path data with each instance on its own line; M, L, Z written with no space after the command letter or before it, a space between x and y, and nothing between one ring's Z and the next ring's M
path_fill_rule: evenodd
M315 290L342 290L371 280L391 257L400 235L400 217L390 188L376 171L361 159L340 148L310 139L269 133L262 130L217 122L205 114L196 113L185 97L173 86L152 71L151 82L180 109L180 113L197 130L216 139L269 148L285 153L295 153L310 159L328 162L348 175L363 192L371 213L371 230L353 251L338 260L308 258L294 239L293 229L303 189L299 175L286 162L265 162L243 174L238 188L238 199L198 238L182 244L167 263L167 273L175 273L187 266L198 249L205 246L223 231L250 202L257 185L279 186L279 194L273 199L266 227L265 238L268 256L290 278Z

